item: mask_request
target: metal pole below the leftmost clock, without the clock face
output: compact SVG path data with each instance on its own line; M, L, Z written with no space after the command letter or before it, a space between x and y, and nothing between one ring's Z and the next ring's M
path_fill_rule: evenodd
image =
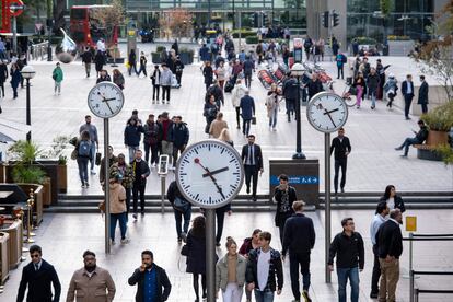
M104 200L105 200L105 254L111 254L111 194L109 194L109 160L108 160L108 118L104 118Z

